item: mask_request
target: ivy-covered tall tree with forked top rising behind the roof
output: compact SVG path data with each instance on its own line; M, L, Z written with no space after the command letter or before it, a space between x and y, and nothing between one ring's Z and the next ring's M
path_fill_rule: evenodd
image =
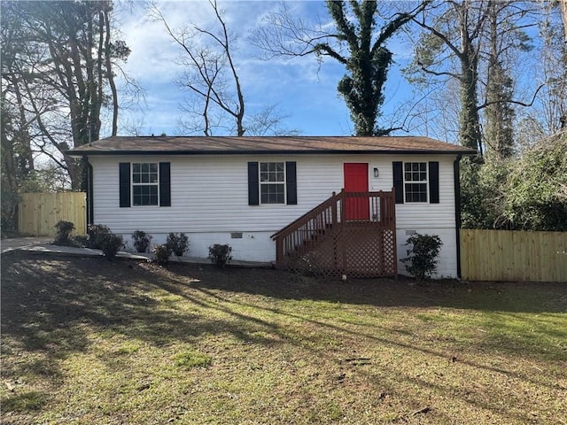
M345 99L356 135L387 135L399 129L377 124L384 104L384 83L392 65L387 42L427 2L411 12L395 13L392 19L384 19L381 26L377 23L376 1L327 0L326 4L334 31L293 19L283 4L279 12L268 15L267 25L255 33L253 43L265 51L267 58L315 54L318 58L337 60L346 68L345 76L338 81L338 93Z

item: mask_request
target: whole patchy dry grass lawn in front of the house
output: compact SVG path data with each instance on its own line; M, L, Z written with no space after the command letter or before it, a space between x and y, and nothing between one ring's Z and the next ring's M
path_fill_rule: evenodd
M2 258L2 423L567 423L567 285Z

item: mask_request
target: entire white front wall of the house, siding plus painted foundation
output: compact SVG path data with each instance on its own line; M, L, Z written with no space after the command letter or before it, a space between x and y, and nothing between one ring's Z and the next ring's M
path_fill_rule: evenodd
M270 237L344 187L344 163L369 164L369 189L392 190L392 161L439 161L439 204L396 205L398 257L405 256L405 232L442 236L439 273L456 274L454 250L454 155L225 155L225 156L93 156L94 222L126 239L144 230L161 243L169 232L190 237L190 255L206 257L212 243L229 243L235 259L274 260ZM119 163L171 163L171 207L119 206ZM297 205L248 205L249 161L297 163ZM373 169L378 168L378 177ZM230 233L241 232L241 239ZM161 239L160 239L161 238ZM404 271L403 266L399 268Z

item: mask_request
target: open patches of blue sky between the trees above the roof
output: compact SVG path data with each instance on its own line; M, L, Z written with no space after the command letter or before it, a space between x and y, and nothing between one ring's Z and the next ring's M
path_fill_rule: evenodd
M275 104L277 110L288 115L286 128L301 135L352 135L353 125L343 100L337 95L337 83L344 74L342 66L327 58L320 66L315 57L272 59L257 58L258 50L249 40L262 18L279 7L276 1L219 1L229 30L237 35L237 49L233 51L242 83L247 113L259 112ZM330 21L324 2L287 2L292 12L303 19ZM211 27L214 12L206 1L157 2L160 12L170 27L196 24ZM167 35L163 23L151 21L143 4L135 3L131 10L119 14L120 38L132 50L123 66L130 77L142 86L145 104L120 112L122 135L132 128L140 135L179 135L178 117L183 113L179 105L186 93L175 85L175 77L182 68L176 65L181 54L178 45ZM400 118L400 108L411 97L411 88L400 76L400 68L411 55L411 46L392 40L394 64L386 83L384 126ZM219 133L221 135L221 133Z

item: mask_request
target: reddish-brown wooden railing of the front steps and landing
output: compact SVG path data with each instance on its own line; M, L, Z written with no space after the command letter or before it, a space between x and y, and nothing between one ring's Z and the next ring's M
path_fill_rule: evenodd
M356 223L372 228L392 228L395 231L395 197L391 192L346 192L341 190L315 206L299 219L272 235L276 241L276 262L286 257L313 251L323 243L330 230Z

